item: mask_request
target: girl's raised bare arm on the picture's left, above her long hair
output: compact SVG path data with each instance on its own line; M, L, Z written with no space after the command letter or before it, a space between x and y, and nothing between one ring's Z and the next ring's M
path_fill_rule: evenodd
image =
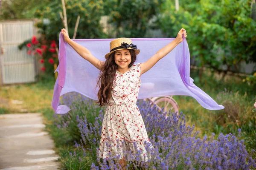
M67 42L81 57L86 59L88 62L90 62L92 65L94 65L99 70L102 70L105 62L94 57L93 54L91 54L87 48L85 48L85 47L79 45L78 43L74 42L73 40L71 40L67 34L66 29L64 29L64 28L61 29L61 34L64 35L64 41Z

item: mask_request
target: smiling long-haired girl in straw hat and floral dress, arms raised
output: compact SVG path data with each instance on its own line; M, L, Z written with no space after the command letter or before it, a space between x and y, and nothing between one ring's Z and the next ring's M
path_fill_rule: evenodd
M186 30L180 29L175 40L157 51L146 62L137 64L134 62L140 50L128 38L111 41L110 52L105 55L104 62L94 57L87 48L70 40L64 28L61 29L61 34L64 35L64 41L81 57L101 71L97 94L99 101L96 103L100 106L107 105L107 108L102 122L99 156L108 159L119 155L119 163L123 169L126 167L126 160L130 159L125 157L127 152L140 153L141 158L147 160L145 146L151 143L136 105L140 76L182 42L182 36L187 37ZM134 142L137 145L136 149Z

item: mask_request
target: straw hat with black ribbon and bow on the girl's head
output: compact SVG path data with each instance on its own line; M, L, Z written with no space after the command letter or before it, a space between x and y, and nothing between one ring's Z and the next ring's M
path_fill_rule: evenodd
M109 45L110 45L110 52L105 55L106 59L111 53L117 50L131 49L135 51L136 55L140 53L140 50L137 49L137 45L132 44L131 39L129 38L117 38L115 40L112 40Z

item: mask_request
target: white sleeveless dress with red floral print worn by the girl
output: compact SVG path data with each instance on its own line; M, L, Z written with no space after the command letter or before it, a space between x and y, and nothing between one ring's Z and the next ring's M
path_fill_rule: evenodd
M151 142L137 107L140 90L140 63L131 66L130 71L121 74L116 71L110 100L102 122L102 134L99 143L99 157L119 159L130 154L140 154L143 161L148 160L146 143ZM145 142L145 143L144 143ZM131 156L128 159L132 159Z

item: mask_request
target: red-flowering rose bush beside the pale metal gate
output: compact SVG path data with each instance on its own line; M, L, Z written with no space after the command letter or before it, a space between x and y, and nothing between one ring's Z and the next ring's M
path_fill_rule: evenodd
M43 74L54 75L53 64L58 64L58 47L55 40L46 40L44 36L39 39L35 36L31 40L26 40L19 45L19 48L22 49L26 47L27 54L37 57L40 62L40 69Z

